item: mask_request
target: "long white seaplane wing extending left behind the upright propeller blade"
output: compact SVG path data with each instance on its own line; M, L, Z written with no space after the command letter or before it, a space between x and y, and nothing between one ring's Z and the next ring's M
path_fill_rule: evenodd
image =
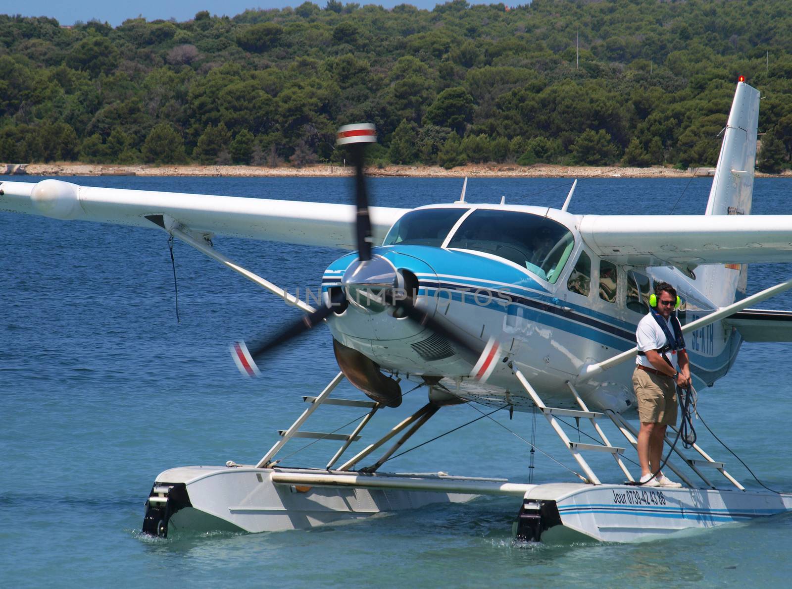
M382 243L409 209L369 210L375 243ZM353 205L96 188L49 179L0 182L0 211L155 228L147 219L152 216L161 227L177 224L199 235L356 249Z

